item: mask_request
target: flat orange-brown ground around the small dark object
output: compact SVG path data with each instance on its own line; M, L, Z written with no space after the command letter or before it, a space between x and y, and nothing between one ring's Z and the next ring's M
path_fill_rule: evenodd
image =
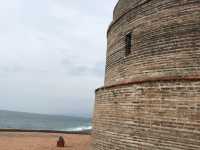
M59 136L64 137L65 148L56 147ZM90 135L0 132L0 150L89 150L90 142Z

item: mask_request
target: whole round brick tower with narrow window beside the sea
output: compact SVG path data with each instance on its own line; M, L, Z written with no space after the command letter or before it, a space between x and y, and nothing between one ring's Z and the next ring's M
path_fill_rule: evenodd
M200 149L200 0L120 0L94 150Z

